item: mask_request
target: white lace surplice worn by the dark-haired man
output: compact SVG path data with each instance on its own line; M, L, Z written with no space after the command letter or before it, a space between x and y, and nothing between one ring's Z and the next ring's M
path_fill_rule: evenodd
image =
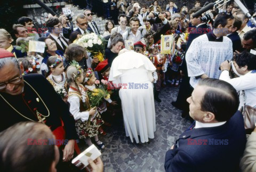
M223 42L209 41L206 34L197 37L193 40L186 53L190 85L195 88L200 80L195 77L204 73L209 78L219 79L221 73L221 70L219 70L220 64L232 58L232 42L228 37L223 36Z

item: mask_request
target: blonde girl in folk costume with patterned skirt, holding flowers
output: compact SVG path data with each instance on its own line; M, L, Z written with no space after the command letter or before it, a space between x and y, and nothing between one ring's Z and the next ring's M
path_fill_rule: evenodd
M68 91L69 111L75 118L77 135L85 140L87 145L92 145L91 138L100 149L105 148L105 144L99 140L98 129L104 123L96 107L90 109L89 97L82 85L84 80L83 69L77 62L71 63L67 69L67 79L70 85Z

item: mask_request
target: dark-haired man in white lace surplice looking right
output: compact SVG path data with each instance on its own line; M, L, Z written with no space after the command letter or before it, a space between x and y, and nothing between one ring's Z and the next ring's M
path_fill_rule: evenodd
M193 40L186 53L190 85L195 88L201 78L219 79L220 64L233 58L230 34L233 18L227 14L218 15L213 30Z

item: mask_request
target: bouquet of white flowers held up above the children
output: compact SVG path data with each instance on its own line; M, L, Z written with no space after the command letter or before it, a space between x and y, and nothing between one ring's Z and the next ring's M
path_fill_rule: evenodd
M103 54L105 52L105 42L101 36L91 33L82 36L76 42L76 44L81 45L86 49L87 52L90 52L94 57L97 57L99 61L103 61Z

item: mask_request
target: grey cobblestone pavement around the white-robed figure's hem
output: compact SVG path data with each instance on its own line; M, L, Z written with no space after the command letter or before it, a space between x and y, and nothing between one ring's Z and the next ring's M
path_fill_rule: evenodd
M130 137L125 136L122 122L105 128L107 135L100 136L106 145L101 155L105 171L164 171L165 152L191 124L181 118L181 111L171 104L178 91L179 88L165 87L159 94L162 102L155 101L156 132L150 143L132 143Z

